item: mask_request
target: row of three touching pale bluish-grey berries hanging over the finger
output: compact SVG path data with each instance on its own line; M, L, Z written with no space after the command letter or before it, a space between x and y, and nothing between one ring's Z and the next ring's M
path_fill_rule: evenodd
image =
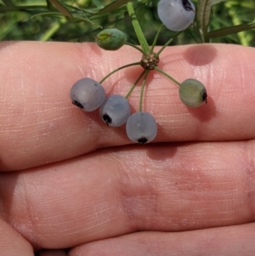
M83 111L99 109L99 116L111 127L120 127L127 122L127 137L134 142L144 144L156 137L156 121L150 113L139 111L131 115L125 97L112 94L106 98L105 88L91 78L77 81L71 88L70 96L72 104Z

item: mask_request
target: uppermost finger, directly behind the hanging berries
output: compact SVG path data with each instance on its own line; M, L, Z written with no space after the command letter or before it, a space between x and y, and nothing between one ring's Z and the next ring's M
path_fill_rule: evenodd
M82 77L101 80L119 66L137 62L133 48L100 50L94 43L1 43L0 168L15 170L58 162L100 147L126 145L125 127L109 128L98 111L71 105L69 91ZM253 48L196 45L167 48L160 67L182 82L195 78L207 87L208 104L189 109L178 88L152 72L144 93L144 111L158 124L159 141L253 139L255 112ZM118 71L104 83L106 94L126 95L142 68ZM139 108L138 86L130 96Z

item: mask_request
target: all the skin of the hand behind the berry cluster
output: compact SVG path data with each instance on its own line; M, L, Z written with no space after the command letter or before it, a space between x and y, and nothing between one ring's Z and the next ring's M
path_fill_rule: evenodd
M140 58L128 46L0 43L1 255L254 255L255 49L166 48L159 67L203 82L208 103L187 108L152 71L143 107L158 134L148 145L69 96L78 79ZM106 94L126 95L141 71L118 71Z

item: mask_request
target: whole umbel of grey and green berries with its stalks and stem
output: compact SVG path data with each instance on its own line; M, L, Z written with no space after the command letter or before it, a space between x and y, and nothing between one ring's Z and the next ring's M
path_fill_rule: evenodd
M149 48L144 35L141 34L135 15L132 12L132 3L127 3L127 5L129 5L129 15L135 20L133 26L142 49L131 43L127 43L126 35L115 28L105 29L99 32L96 37L96 43L100 48L104 48L105 50L116 50L126 43L142 52L142 59L139 62L124 65L115 71L111 71L111 73L100 82L96 82L88 77L82 78L72 86L70 96L71 102L83 111L95 111L99 109L99 116L111 127L120 127L126 123L127 137L133 142L144 144L155 139L157 133L155 118L150 113L142 111L144 85L150 71L159 71L162 75L175 82L179 86L178 94L180 100L188 107L199 107L204 102L207 103L207 90L201 82L195 79L186 79L184 82L180 83L157 66L160 61L159 55L162 50L173 41L173 38L171 38L159 52L154 53L153 49L156 45L156 39L160 30L156 35L153 45ZM161 0L158 4L158 15L163 25L169 30L183 31L190 26L194 20L195 6L190 0ZM134 82L133 87L129 90L126 97L117 94L105 97L105 88L101 83L116 71L131 65L141 65L144 71L138 77L137 81ZM135 88L142 77L144 77L144 80L141 87L139 111L131 114L127 98L132 94L133 88Z

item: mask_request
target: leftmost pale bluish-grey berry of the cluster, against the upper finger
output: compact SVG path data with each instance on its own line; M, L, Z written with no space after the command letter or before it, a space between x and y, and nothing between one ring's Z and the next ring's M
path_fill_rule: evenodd
M70 91L71 103L83 111L94 111L105 100L105 88L91 78L78 80Z

